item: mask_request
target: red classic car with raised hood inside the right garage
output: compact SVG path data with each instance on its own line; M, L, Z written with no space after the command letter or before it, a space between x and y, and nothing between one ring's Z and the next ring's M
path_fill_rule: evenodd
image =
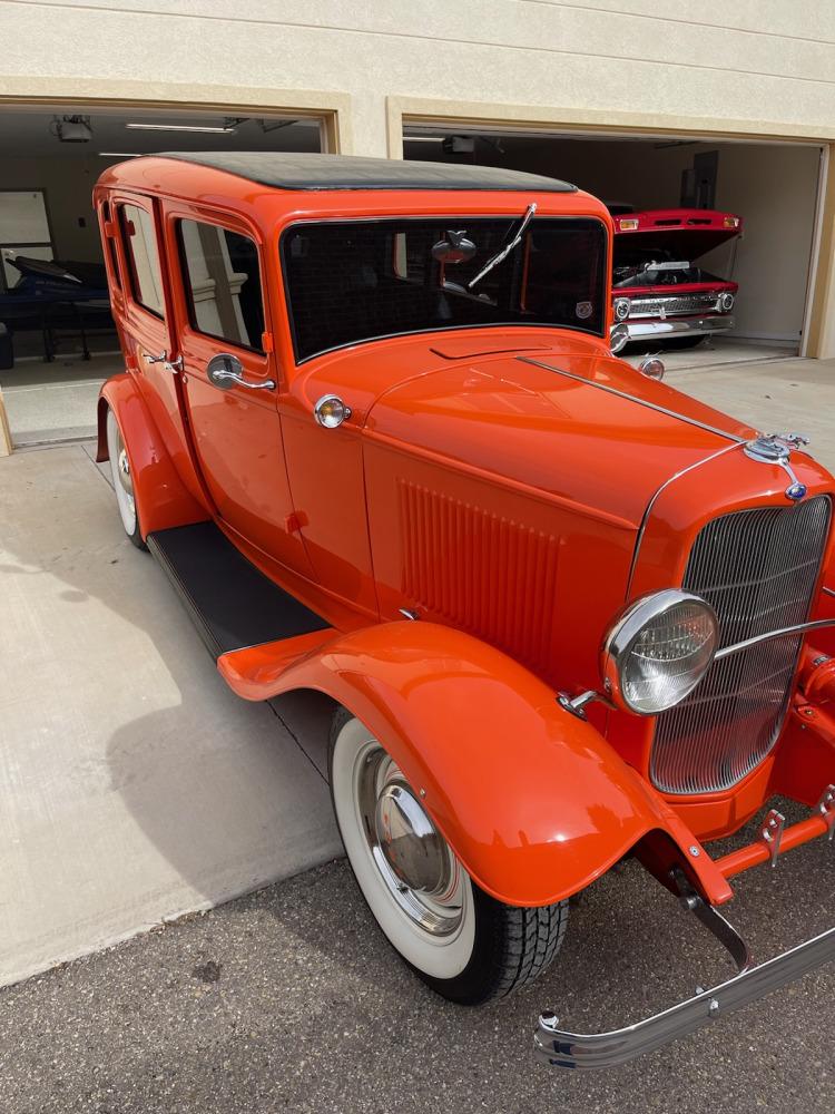
M734 328L738 285L697 260L738 236L741 217L714 209L613 214L612 352L631 342L698 344Z

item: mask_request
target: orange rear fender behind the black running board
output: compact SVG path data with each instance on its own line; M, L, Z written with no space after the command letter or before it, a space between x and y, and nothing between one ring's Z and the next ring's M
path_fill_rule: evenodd
M186 490L139 388L127 372L108 379L99 393L96 460L108 459L108 409L116 416L127 449L143 538L155 530L209 518L206 508Z

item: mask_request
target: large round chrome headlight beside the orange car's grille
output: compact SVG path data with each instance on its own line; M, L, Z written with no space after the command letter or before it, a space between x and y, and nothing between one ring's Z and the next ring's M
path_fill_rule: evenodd
M607 696L627 712L656 715L680 703L714 659L719 624L710 604L665 588L630 604L602 651Z

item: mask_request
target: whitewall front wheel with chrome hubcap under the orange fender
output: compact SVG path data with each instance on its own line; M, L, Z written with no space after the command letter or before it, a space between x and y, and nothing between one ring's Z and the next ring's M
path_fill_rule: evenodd
M475 1006L531 983L556 957L568 902L517 908L466 873L366 727L334 716L331 794L348 862L390 944L438 994Z

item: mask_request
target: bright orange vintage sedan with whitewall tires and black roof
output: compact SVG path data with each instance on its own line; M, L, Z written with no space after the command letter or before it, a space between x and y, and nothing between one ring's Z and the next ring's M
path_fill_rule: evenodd
M610 352L611 218L475 166L171 154L95 192L125 529L235 693L340 710L362 892L440 994L540 974L636 857L739 971L539 1053L618 1064L835 955L753 966L729 879L835 830L835 481ZM714 859L770 798L762 836Z

